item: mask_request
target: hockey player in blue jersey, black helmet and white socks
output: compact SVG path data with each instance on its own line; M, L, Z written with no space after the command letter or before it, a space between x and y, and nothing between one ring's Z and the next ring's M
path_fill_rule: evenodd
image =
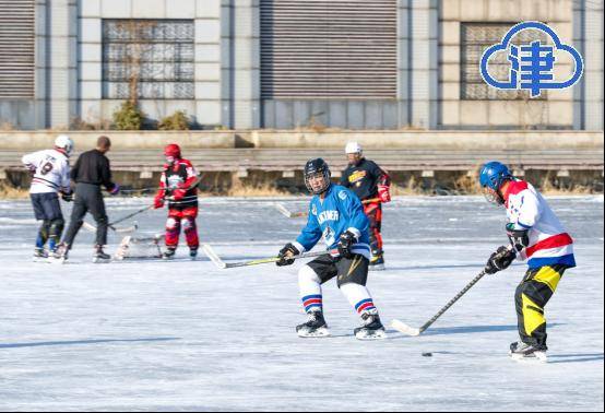
M330 181L330 169L321 158L311 160L305 166L305 184L315 196L307 226L296 241L280 250L277 266L292 264L293 256L310 250L322 236L330 253L298 272L302 307L308 315L308 321L296 328L298 335L329 335L321 284L337 278L339 287L361 318L363 326L355 329L355 335L360 340L384 338L384 327L366 288L370 247L368 219L361 202L348 189Z

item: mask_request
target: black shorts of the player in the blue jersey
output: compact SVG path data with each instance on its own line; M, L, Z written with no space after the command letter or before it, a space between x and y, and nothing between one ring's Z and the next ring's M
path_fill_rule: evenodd
M340 287L348 283L366 285L368 282L368 264L369 261L364 256L354 255L352 259L347 259L333 258L327 253L312 260L307 266L318 274L322 284L337 276Z

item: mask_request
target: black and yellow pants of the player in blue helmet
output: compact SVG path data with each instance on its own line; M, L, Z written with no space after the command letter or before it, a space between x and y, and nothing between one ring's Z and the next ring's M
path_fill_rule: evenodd
M514 302L519 335L524 343L537 349L546 347L544 307L568 268L570 267L565 264L554 264L530 269L517 287Z

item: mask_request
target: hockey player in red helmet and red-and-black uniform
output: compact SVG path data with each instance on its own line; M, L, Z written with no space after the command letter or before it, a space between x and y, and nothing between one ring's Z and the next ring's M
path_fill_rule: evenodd
M169 144L164 150L166 164L159 178L159 191L155 196L154 206L163 208L168 201L168 220L166 221L166 247L164 259L175 257L180 229L185 233L189 256L195 259L200 240L198 237L198 173L191 162L181 157L179 145Z

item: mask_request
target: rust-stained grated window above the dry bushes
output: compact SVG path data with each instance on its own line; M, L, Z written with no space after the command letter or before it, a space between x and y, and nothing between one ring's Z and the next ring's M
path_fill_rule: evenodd
M104 20L103 97L194 98L192 20Z

